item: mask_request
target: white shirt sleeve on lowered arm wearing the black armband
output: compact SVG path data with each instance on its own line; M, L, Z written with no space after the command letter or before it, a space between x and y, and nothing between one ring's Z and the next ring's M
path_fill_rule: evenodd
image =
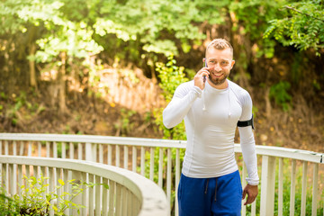
M240 121L247 121L252 118L252 99L248 93L244 95L242 103L242 115ZM238 127L240 145L244 162L247 166L247 184L259 184L259 177L257 175L257 151L256 141L252 126Z

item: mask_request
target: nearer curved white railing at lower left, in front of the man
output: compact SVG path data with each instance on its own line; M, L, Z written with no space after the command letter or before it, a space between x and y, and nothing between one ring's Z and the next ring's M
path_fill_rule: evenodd
M80 184L84 192L73 200L85 206L80 209L81 215L169 215L166 194L157 184L116 166L73 159L0 156L0 186L8 196L22 193L21 185L26 186L23 175L49 177L49 190L56 192L58 199L60 194L72 190L67 184L71 179L93 184L94 187L88 188ZM66 184L55 190L60 185L58 179ZM74 209L67 209L65 213L77 214ZM49 211L49 215L54 215L54 211Z

